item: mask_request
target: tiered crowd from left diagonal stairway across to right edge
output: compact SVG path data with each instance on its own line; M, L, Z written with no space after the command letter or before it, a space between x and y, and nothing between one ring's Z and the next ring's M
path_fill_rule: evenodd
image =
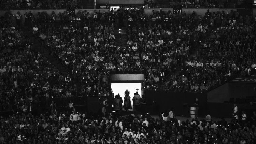
M94 11L92 16L89 13L86 14L87 17L83 17L81 13L74 15L81 20L98 19L91 27L81 23L64 26L46 26L39 23L37 31L43 43L69 68L71 77L89 87L98 83L96 87L104 95L110 93L110 72L144 73L145 89L204 92L235 76L250 74L249 71L254 66L252 60L245 60L246 62L240 62L242 66L239 68L238 60L243 58L226 57L228 49L225 53L215 53L215 47L228 48L236 44L230 43L229 39L224 41L224 32L230 32L237 27L237 31L247 31L250 28L251 33L244 33L246 35L243 39L249 36L252 39L250 45L253 46L252 26L255 20L249 16L243 18L236 11L225 14L224 11L212 13L208 10L204 16L197 16L195 12L187 16L185 12L173 14L160 9L156 12L153 10L148 17L144 15L143 9L133 10L132 13L118 9L113 10L113 13L102 14ZM52 16L48 19L52 19ZM110 19L114 23L109 23ZM126 23L127 44L115 45L114 27L124 26ZM200 49L193 56L195 54L190 48L194 48L197 43L201 43ZM239 40L234 47L241 47L242 42L238 43ZM208 57L203 55L205 53ZM233 52L229 53L232 54ZM254 54L253 49L250 54ZM176 68L181 68L181 72L177 72ZM165 85L165 80L170 80L168 86Z

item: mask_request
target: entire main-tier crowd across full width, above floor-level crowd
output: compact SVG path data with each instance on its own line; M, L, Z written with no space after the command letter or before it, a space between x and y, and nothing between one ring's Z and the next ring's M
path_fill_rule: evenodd
M16 105L14 101L29 97L42 100L42 96L110 96L110 73L116 72L144 73L145 89L205 92L233 77L250 75L255 67L255 19L242 17L235 11L225 14L208 10L204 16L195 12L186 16L185 12L173 14L160 9L148 17L143 9L132 13L118 9L110 14L64 12L58 16L54 12L52 15L39 12L37 18L30 13L34 35L65 65L68 75L61 75L40 53L35 53L31 40L20 27L2 18L1 84L5 88L1 93L1 109L11 109ZM73 18L97 21L92 26L77 20L63 22ZM110 19L114 22L109 23ZM56 23L48 25L50 21ZM17 19L16 23L20 24ZM30 22L25 20L26 23ZM114 27L126 23L127 44L117 46ZM23 98L16 96L23 90L27 90Z

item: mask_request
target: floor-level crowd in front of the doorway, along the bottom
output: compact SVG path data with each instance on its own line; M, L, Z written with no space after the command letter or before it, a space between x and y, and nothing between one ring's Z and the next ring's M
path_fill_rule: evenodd
M238 117L236 115L236 117ZM0 143L16 144L255 144L256 112L226 121L205 118L181 121L175 111L159 117L137 114L87 115L76 108L14 113L0 117Z

